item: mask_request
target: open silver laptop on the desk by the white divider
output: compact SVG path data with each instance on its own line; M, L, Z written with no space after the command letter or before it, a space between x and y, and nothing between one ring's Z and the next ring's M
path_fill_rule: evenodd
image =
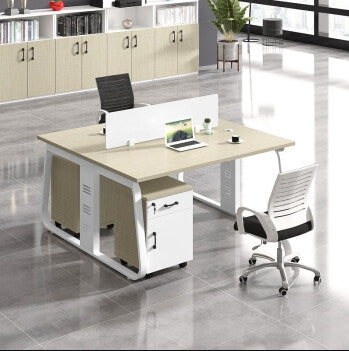
M165 124L165 145L176 151L187 151L207 146L195 140L193 119L181 119Z

